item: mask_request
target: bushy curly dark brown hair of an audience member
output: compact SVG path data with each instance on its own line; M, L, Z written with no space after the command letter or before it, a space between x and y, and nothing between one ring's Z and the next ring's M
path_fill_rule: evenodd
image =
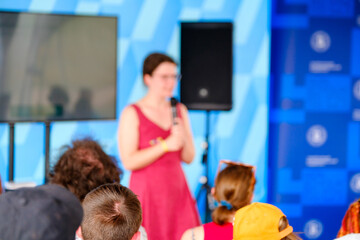
M50 182L69 189L82 202L88 192L105 183L120 183L122 171L116 159L96 141L85 138L64 146L50 173Z

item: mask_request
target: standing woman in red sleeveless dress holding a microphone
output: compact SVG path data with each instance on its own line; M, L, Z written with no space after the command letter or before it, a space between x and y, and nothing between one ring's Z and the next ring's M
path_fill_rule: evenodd
M120 118L120 157L131 170L130 189L138 195L143 226L150 240L180 239L200 224L181 162L191 163L195 150L188 112L176 105L173 119L169 98L178 75L170 57L150 54L144 61L144 98L127 106Z

